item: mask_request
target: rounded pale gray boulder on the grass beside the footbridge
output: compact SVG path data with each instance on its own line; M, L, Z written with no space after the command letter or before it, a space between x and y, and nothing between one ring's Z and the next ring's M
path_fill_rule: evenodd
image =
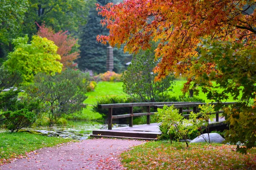
M207 142L209 142L209 138L208 138L208 133L204 133L204 138L207 140ZM222 143L225 139L218 133L209 133L210 136L210 142L214 142L214 143ZM196 137L195 139L193 139L190 143L198 143L198 142L205 142L204 138L202 137L202 135Z

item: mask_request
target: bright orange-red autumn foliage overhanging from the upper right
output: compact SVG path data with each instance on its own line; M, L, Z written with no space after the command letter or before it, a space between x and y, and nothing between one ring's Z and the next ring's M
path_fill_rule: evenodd
M256 0L125 0L106 6L96 4L104 17L102 26L109 35L97 40L137 52L150 48L150 41L159 41L154 68L160 80L169 73L189 77L197 63L201 37L242 42L256 40ZM214 63L204 65L198 75L215 69ZM195 70L195 69L194 69ZM190 72L191 71L191 72ZM189 82L192 79L188 79ZM189 84L188 82L188 84Z

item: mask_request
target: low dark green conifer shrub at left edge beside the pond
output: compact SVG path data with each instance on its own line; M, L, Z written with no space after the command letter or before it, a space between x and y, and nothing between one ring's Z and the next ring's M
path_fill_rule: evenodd
M16 132L23 127L28 127L32 125L36 120L36 115L30 112L28 109L21 109L18 111L7 111L3 113L7 118L6 125L11 132Z

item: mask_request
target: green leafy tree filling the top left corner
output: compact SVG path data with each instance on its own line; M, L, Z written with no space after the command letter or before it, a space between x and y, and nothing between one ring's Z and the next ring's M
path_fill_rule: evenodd
M11 42L19 33L27 11L28 0L1 0L0 2L0 58L12 50Z

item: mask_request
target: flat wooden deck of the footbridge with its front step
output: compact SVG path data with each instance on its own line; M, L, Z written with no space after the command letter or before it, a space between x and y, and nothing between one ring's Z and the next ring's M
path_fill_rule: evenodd
M219 118L219 122L210 121L209 127L214 129L215 127L223 126L225 125L224 120L224 118ZM159 123L151 123L150 125L134 125L133 127L116 127L112 130L93 130L91 137L157 140L157 135L161 134L159 125Z

